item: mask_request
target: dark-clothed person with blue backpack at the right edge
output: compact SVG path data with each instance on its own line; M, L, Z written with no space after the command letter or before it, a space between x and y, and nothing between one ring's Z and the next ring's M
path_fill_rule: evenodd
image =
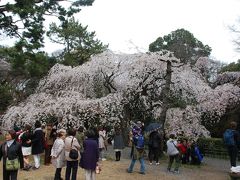
M239 132L237 129L237 123L232 121L230 123L230 128L226 129L223 134L224 144L227 147L228 155L230 157L230 164L232 167L236 167L237 154L238 154L238 144L239 144Z

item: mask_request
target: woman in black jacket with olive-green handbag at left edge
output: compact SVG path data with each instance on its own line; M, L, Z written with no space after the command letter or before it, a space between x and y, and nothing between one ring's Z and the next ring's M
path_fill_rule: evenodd
M0 160L3 158L3 180L17 180L18 169L24 167L21 144L16 140L16 132L9 130L0 147Z

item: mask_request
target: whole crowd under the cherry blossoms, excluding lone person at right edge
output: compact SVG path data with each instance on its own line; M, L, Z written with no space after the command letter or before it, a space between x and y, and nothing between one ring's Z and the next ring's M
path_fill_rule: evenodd
M77 171L80 166L85 170L86 180L95 180L99 172L99 161L106 160L105 151L107 144L113 143L115 160L121 160L121 152L125 148L121 127L116 125L108 141L108 133L102 127L94 127L86 130L84 127L78 129L57 129L53 123L43 126L36 121L34 127L25 124L24 128L14 128L5 135L5 142L0 147L0 158L3 157L3 179L17 179L18 169L25 171L38 170L41 166L41 157L44 153L44 165L52 164L55 167L54 180L77 179ZM145 174L146 157L149 164L156 165L161 162L159 158L166 151L169 163L166 169L169 172L179 173L180 163L200 164L203 157L195 142L189 143L183 135L174 134L169 136L165 142L163 133L156 129L145 132L143 123L138 122L130 129L129 146L131 146L131 163L127 169L133 172L137 160L140 161L140 174ZM148 149L148 156L146 155ZM30 156L33 162L30 162ZM18 166L8 169L9 160L18 160ZM175 161L174 170L171 171ZM66 167L63 175L62 168Z

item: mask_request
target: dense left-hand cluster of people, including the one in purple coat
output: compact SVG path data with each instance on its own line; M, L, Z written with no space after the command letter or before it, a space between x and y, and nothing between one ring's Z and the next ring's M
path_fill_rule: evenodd
M43 126L40 121L36 121L33 128L26 124L23 129L13 129L15 130L5 133L5 142L0 147L3 180L16 180L19 169L38 170L43 154L44 165L52 164L56 168L54 180L76 180L79 166L85 170L86 180L95 180L98 162L105 160L106 131L102 127L86 131L83 127L65 130L57 129L53 123ZM117 139L116 141L121 141L120 138ZM119 160L121 148L116 144ZM33 157L33 162L30 162L30 156ZM14 164L10 167L9 163ZM64 178L63 167L66 167Z

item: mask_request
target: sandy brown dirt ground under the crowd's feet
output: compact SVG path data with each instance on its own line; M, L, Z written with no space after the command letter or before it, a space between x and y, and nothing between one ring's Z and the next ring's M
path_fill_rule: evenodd
M108 150L106 154L108 160L101 162L102 171L97 175L97 180L227 180L228 166L227 160L205 158L205 162L201 166L184 165L180 167L180 174L172 174L166 172L167 160L162 159L160 165L146 164L146 174L139 174L140 165L137 162L134 167L134 172L129 174L126 172L130 164L128 158L128 150L123 152L121 161L114 161L112 150ZM39 170L19 171L19 180L53 180L55 169L52 165L42 165ZM62 170L64 177L65 168ZM0 179L2 179L2 163L0 165ZM78 179L84 178L84 170L78 169Z

